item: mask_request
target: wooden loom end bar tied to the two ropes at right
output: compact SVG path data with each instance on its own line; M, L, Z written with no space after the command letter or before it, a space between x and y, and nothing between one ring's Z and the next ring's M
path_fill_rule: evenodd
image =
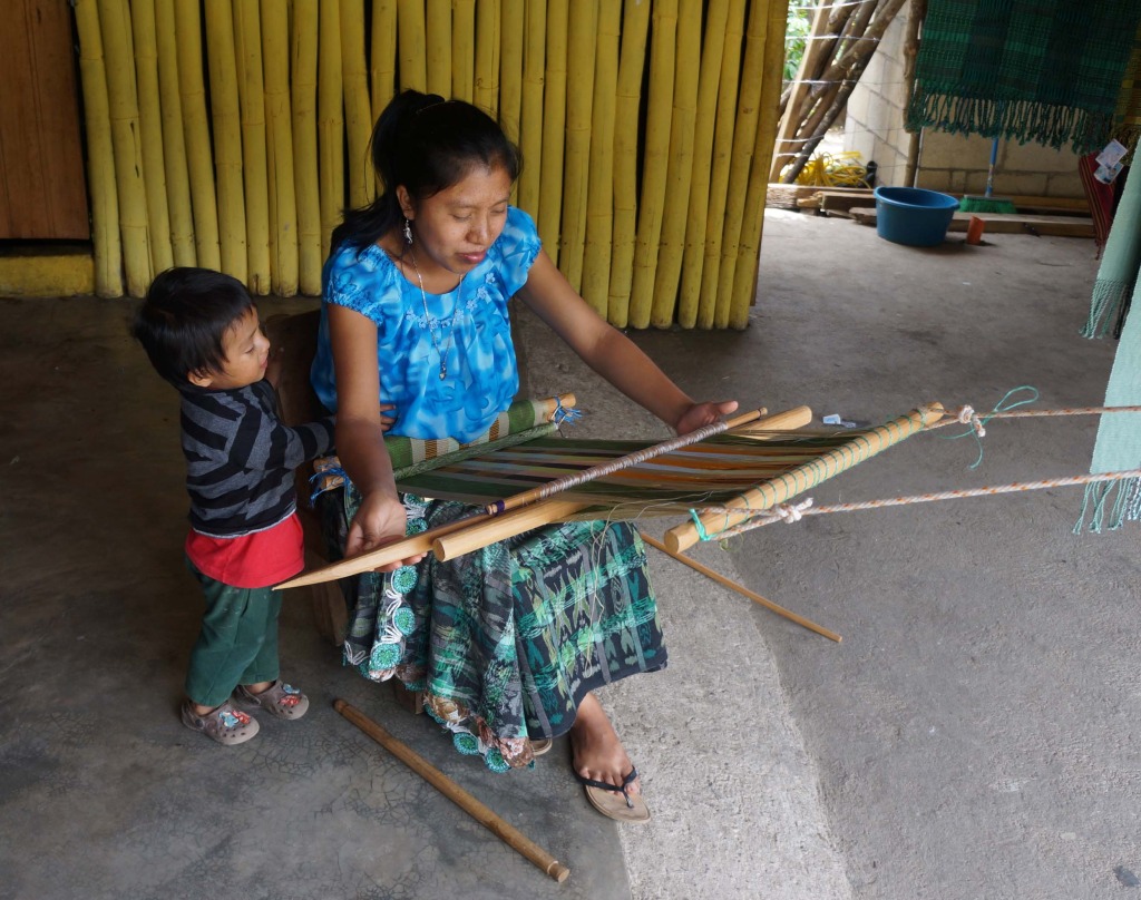
M746 490L736 500L723 504L717 512L706 512L699 516L702 530L717 533L733 528L751 516L771 509L778 503L784 503L790 497L807 490L824 479L851 469L857 463L898 444L916 431L930 427L939 421L942 414L942 406L930 404L913 410L907 415L893 419L879 428L863 431L843 446ZM665 533L665 545L674 553L691 548L701 540L703 540L702 533L698 532L697 525L691 521Z

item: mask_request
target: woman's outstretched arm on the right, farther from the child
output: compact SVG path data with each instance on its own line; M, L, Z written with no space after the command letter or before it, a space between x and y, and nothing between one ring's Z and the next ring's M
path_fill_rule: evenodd
M736 400L695 403L617 329L608 325L540 251L519 297L583 362L679 435L711 424Z

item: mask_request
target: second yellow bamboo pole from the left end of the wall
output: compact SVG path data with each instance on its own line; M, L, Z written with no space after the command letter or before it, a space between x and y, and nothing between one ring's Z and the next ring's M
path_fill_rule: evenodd
M99 0L99 29L106 52L111 144L115 153L119 230L123 241L127 293L143 297L151 285L151 248L146 220L146 184L139 140L130 10L126 0Z

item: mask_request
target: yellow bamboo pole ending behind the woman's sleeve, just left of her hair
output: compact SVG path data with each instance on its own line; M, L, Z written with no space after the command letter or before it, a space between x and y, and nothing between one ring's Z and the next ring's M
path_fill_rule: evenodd
M321 186L321 256L329 256L345 204L345 119L341 114L340 0L322 0L317 50L317 151Z

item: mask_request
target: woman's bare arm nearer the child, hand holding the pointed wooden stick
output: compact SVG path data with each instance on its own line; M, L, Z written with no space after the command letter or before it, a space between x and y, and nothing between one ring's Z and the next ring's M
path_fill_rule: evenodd
M354 557L404 537L406 517L393 479L393 462L385 448L377 326L345 307L330 305L327 315L337 376L337 455L362 494L345 548L345 556ZM379 570L390 571L422 556Z

